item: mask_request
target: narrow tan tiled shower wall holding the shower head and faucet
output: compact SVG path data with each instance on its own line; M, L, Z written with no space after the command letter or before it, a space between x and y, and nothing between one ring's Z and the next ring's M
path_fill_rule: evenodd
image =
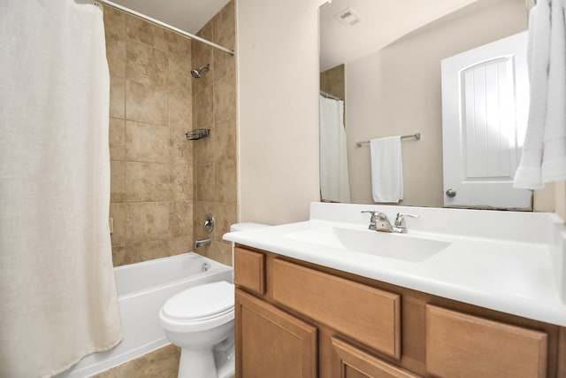
M217 13L197 33L228 49L235 48L234 2ZM208 139L195 141L195 237L209 236L212 243L196 250L210 258L232 265L230 243L222 240L237 221L236 186L236 73L235 58L193 41L193 65L210 63L210 71L193 81L193 127L210 128ZM211 212L216 228L203 229L204 217Z

